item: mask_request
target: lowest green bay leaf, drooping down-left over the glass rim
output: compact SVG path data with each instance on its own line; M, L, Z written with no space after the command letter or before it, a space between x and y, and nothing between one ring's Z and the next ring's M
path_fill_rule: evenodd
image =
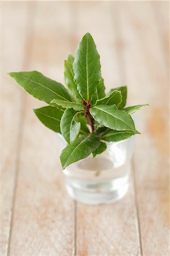
M81 135L64 148L60 155L63 170L70 164L89 156L99 146L99 137L94 134Z

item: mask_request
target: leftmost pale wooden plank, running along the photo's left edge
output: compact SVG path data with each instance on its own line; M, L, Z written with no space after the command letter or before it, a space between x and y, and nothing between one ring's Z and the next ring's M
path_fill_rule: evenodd
M18 171L23 92L7 76L26 65L27 4L2 2L1 20L1 255L7 255L13 214L13 199ZM13 24L13 29L11 29Z

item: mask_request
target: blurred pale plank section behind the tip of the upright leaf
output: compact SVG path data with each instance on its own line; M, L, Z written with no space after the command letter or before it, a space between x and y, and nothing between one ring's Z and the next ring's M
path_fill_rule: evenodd
M86 32L90 32L97 44L97 50L101 57L102 76L105 79L106 90L119 86L122 82L122 74L117 65L117 52L113 45L117 38L113 35L113 24L109 3L107 2L74 2L72 9L74 15L74 27L72 35L75 50L78 42ZM95 11L98 11L98 13ZM103 10L106 11L104 13ZM88 18L87 18L88 15ZM77 18L77 20L76 20ZM100 22L102 19L105 22Z

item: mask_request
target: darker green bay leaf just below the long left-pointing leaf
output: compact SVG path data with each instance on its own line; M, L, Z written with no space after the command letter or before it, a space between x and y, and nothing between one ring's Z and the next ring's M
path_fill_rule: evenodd
M34 109L34 113L45 126L60 133L60 120L64 113L63 110L52 106L44 106L43 108Z

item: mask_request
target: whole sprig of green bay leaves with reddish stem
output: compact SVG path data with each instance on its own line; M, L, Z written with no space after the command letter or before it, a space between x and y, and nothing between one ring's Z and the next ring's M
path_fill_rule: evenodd
M107 143L140 134L131 114L148 104L125 107L125 85L105 93L100 57L89 33L81 39L75 55L68 55L64 61L67 88L37 71L9 75L26 92L48 104L34 112L45 126L67 141L60 155L63 170L90 154L102 154Z

